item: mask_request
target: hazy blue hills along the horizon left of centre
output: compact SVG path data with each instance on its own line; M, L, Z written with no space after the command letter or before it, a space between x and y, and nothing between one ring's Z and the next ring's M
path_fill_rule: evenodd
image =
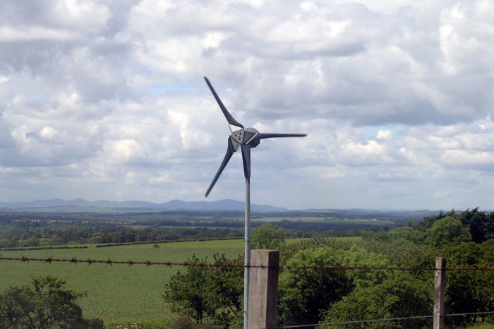
M85 210L245 210L245 203L231 199L219 201L181 201L173 200L165 203L152 203L146 201L86 201L82 198L64 201L61 199L35 200L30 202L0 202L0 210L25 210L25 211L85 211ZM251 204L251 211L255 213L273 213L288 211L287 208L272 207L271 205Z

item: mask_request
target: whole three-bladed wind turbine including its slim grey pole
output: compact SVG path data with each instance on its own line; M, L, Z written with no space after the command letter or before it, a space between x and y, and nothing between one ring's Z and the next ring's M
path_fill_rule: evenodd
M219 108L227 118L231 135L227 140L227 153L224 155L223 162L219 166L219 169L212 179L210 187L206 191L206 197L209 195L213 186L215 186L219 175L222 174L224 167L227 166L231 155L241 148L242 160L243 160L243 175L246 178L246 215L245 215L245 267L243 268L243 328L248 328L248 287L249 287L249 273L251 265L251 148L255 148L259 145L260 140L266 138L278 138L278 137L305 137L305 133L260 133L255 128L244 128L239 121L236 121L233 116L224 107L222 100L219 99L215 88L212 88L210 80L206 80L207 86L210 88L212 95L215 96L216 101L219 104Z

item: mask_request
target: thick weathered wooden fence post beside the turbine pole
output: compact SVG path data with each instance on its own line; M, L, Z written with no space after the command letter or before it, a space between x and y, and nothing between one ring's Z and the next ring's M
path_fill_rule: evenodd
M248 328L276 327L279 251L251 251Z

